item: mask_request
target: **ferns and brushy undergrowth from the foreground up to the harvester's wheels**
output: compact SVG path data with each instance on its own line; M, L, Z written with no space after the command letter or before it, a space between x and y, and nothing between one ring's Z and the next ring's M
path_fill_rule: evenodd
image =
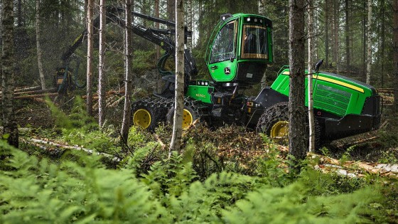
M53 108L63 121L48 134L121 154L114 127L74 110ZM188 129L183 151L166 159L169 135L131 127L129 153L112 169L95 154L66 151L53 161L0 142L0 223L397 222L395 180L323 174L307 161L296 174L286 152L237 127Z

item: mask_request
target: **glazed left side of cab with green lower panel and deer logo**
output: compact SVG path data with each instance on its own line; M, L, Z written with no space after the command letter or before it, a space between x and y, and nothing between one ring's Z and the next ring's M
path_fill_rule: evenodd
M237 70L237 19L225 23L218 31L208 60L208 69L216 82L234 80Z

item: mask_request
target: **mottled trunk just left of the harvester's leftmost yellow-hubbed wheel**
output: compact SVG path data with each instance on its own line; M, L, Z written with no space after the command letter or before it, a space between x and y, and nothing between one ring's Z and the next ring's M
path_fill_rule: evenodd
M125 1L125 16L126 16L126 29L124 33L124 64L125 64L125 80L124 80L124 110L123 110L123 122L122 122L122 140L127 143L129 137L129 127L131 122L131 70L132 70L132 57L133 50L131 42L133 39L133 31L131 27L132 15L131 15L132 0Z

